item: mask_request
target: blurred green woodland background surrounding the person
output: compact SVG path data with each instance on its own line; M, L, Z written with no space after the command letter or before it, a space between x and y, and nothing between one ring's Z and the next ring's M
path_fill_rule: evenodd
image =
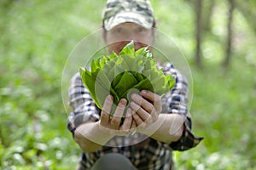
M75 45L100 28L105 2L0 2L0 169L77 165L61 76ZM193 131L206 138L195 149L174 152L177 169L256 169L256 2L151 3L159 30L189 61Z

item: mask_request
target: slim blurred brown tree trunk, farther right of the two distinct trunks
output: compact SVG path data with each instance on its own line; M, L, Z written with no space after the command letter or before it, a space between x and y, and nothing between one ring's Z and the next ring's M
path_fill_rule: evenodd
M233 24L233 11L235 8L235 2L234 0L229 0L230 8L229 8L229 17L228 17L228 35L227 35L227 44L226 44L226 56L224 59L223 66L224 68L227 68L230 65L230 57L232 52L232 36L233 36L233 30L232 30L232 24Z

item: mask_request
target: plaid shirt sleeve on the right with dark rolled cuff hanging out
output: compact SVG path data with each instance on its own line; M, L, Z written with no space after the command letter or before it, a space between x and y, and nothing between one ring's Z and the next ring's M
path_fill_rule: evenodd
M175 77L176 83L172 91L165 95L164 105L166 111L170 114L176 113L184 116L183 135L177 142L172 142L169 146L172 150L189 150L201 142L202 137L195 136L192 133L192 121L188 111L188 82L187 79L177 71L172 64L167 63L163 71L165 74L170 74Z

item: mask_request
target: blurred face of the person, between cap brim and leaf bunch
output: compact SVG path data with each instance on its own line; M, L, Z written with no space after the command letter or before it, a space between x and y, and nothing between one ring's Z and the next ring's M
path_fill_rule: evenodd
M122 48L131 40L134 42L135 50L151 45L154 39L153 29L146 29L135 23L126 22L106 31L104 35L108 50L119 54Z

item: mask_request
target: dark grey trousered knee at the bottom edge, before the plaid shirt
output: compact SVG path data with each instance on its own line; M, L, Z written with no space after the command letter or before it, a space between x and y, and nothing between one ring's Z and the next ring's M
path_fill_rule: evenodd
M107 154L102 156L91 170L134 170L136 169L131 164L131 161L125 156L117 153Z

